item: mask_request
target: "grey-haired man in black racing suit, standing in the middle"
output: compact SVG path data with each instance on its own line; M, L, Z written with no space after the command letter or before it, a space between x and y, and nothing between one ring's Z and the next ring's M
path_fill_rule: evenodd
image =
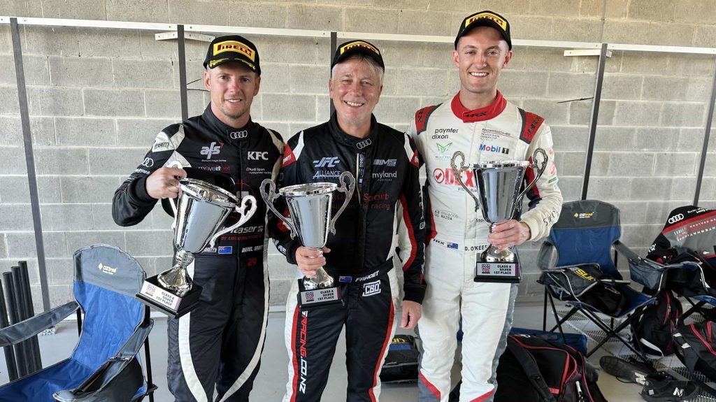
M328 237L324 257L301 247L298 238L292 240L284 225L271 225L271 236L289 263L298 265L298 278L314 276L324 266L343 303L305 308L298 305L294 282L286 303L289 381L284 402L321 399L343 325L347 400L377 401L380 368L397 325L396 247L405 278L402 328L415 327L425 293L425 224L415 144L372 115L382 90L382 57L372 44L350 41L339 46L332 67L329 90L336 112L329 122L289 140L279 187L340 184L339 175L349 171L356 178L354 194L336 222L335 235ZM342 206L342 195L334 192L332 215Z

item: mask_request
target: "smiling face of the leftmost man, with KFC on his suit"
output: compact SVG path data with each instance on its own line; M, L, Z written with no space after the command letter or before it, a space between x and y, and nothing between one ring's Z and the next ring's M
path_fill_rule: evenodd
M261 77L241 63L224 63L204 72L204 86L211 92L211 111L234 128L248 123L259 84Z

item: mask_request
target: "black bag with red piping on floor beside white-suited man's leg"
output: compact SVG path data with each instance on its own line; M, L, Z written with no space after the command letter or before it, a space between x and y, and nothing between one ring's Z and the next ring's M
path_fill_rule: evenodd
M599 371L576 349L531 335L509 335L497 368L495 402L606 402Z

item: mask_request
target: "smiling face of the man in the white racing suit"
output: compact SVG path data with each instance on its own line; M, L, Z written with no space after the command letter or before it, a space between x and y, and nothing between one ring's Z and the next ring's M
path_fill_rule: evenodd
M461 37L458 49L453 51L453 62L460 70L460 99L492 102L500 72L511 58L507 42L494 28L478 26Z

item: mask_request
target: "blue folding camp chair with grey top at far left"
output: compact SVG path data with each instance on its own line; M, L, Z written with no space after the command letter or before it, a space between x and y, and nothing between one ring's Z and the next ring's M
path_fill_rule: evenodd
M135 294L145 273L137 260L111 245L92 245L74 253L74 298L46 313L0 330L0 346L15 345L84 311L72 356L0 386L0 402L153 401L147 335L149 311ZM145 345L147 379L137 353Z

